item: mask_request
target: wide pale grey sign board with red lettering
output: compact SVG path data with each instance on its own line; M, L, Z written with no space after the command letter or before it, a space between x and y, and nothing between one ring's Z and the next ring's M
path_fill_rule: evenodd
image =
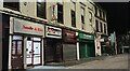
M43 25L20 18L13 18L13 24L14 24L13 32L44 36Z

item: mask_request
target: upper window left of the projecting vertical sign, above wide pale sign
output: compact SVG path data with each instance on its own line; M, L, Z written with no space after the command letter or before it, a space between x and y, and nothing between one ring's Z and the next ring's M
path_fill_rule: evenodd
M46 16L46 1L44 0L37 1L37 16L40 18L47 18L47 16Z

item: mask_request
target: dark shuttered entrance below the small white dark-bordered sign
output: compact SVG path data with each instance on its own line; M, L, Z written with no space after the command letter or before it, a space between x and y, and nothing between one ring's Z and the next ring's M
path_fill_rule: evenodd
M44 39L44 61L58 62L62 61L62 44L56 39Z

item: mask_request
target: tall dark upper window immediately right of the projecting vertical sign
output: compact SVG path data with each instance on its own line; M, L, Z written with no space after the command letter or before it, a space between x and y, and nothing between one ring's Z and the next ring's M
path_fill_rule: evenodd
M63 24L63 4L57 3L57 23Z

